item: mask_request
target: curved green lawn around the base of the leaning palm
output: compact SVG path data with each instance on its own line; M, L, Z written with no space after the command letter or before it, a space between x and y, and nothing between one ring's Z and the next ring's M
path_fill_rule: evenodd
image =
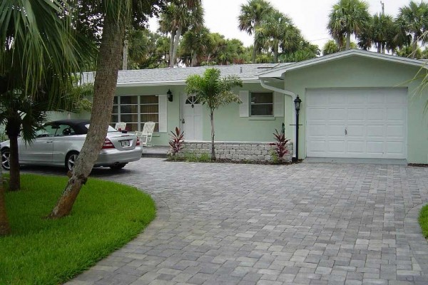
M155 217L151 197L134 187L89 179L69 217L44 219L66 177L21 175L6 193L12 234L0 238L0 284L61 284L122 247Z

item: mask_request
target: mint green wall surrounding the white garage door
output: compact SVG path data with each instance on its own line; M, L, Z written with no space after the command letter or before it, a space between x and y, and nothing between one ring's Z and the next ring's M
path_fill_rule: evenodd
M305 150L305 93L308 88L408 88L407 94L407 162L428 162L428 114L424 106L428 90L418 93L420 80L412 80L418 67L389 61L352 56L336 61L320 63L285 73L285 89L302 98L300 110L299 156L306 157ZM285 125L291 122L290 110L294 103L285 98ZM286 136L292 138L294 129L287 128Z

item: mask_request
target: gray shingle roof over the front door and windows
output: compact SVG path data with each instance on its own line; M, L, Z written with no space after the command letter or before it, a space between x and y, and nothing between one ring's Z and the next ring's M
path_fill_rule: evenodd
M290 63L256 63L256 64L238 64L230 66L198 66L186 68L155 68L140 69L132 71L119 71L118 85L127 84L148 84L162 85L163 83L184 82L192 74L202 75L207 68L220 69L221 76L237 75L242 81L252 81L258 79L258 74L269 70L270 68L286 66ZM93 72L83 73L83 82L93 82Z

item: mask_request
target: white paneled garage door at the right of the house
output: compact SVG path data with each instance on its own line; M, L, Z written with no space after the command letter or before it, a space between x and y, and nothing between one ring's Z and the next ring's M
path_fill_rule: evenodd
M306 156L407 158L407 89L306 93Z

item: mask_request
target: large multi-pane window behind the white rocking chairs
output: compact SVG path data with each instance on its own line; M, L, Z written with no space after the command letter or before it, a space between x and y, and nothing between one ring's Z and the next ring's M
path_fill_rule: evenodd
M143 130L146 122L155 122L159 131L159 98L156 95L119 95L113 100L111 125L126 122L126 130Z

